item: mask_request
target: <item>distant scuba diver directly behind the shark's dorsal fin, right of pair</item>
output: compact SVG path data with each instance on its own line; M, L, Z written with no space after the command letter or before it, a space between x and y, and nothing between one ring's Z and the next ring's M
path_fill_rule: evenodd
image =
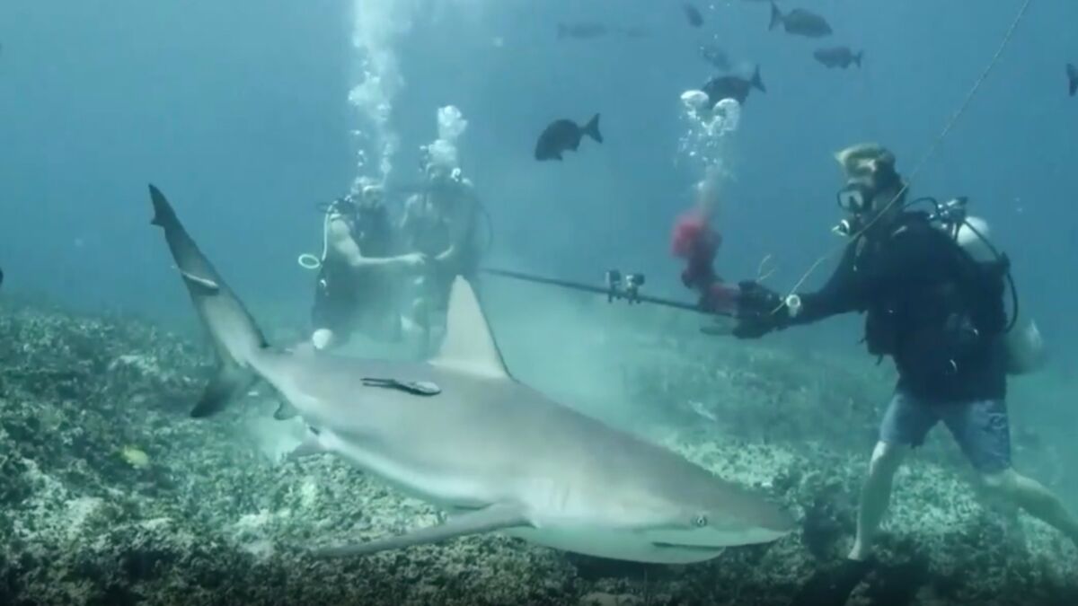
M424 184L404 204L400 233L404 249L428 261L427 271L411 280L405 330L418 333L430 352L438 341L432 333L444 329L454 278L461 275L475 284L482 206L472 182L452 162L428 156L420 166Z

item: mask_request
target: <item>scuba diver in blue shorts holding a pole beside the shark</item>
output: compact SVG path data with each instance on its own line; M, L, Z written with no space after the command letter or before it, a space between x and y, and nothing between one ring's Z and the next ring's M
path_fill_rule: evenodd
M847 218L835 231L851 237L838 268L820 290L786 298L755 280L741 283L733 329L736 338L756 339L861 312L868 350L892 357L898 370L861 488L853 548L838 571L826 574L831 578L815 581L828 593L808 596L807 603L842 603L871 569L895 472L939 422L989 493L1078 546L1078 520L1048 488L1011 467L1007 375L1032 370L1040 342L1035 327L1010 330L1018 299L1006 256L983 237L977 226L983 223L966 219L962 198L937 203L932 212L910 210L907 183L887 149L858 144L835 157L847 179L838 194ZM971 243L993 254L976 258ZM1015 304L1010 321L1008 283Z

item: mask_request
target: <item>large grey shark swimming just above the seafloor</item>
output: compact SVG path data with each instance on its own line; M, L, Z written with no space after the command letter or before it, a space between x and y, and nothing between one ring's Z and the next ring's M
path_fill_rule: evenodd
M164 231L217 358L191 416L211 416L265 382L306 426L294 456L335 454L445 514L401 535L315 547L313 555L503 533L584 555L688 564L793 529L766 495L514 378L467 278L452 285L445 334L427 360L272 346L153 184L150 199L151 222Z

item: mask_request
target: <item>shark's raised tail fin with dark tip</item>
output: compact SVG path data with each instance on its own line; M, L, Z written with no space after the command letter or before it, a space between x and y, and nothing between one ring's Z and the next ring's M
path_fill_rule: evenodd
M217 374L191 411L191 416L209 416L243 397L258 380L251 361L266 346L265 338L243 302L188 235L165 194L152 184L150 199L154 211L151 223L165 231L172 260L217 353Z

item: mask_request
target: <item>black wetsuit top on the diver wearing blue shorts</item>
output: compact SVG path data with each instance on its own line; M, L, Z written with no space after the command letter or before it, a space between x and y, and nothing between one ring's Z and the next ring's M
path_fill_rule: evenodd
M818 291L783 325L867 312L869 350L890 355L899 387L934 400L1003 399L1004 263L977 263L920 212L883 242L854 240Z

